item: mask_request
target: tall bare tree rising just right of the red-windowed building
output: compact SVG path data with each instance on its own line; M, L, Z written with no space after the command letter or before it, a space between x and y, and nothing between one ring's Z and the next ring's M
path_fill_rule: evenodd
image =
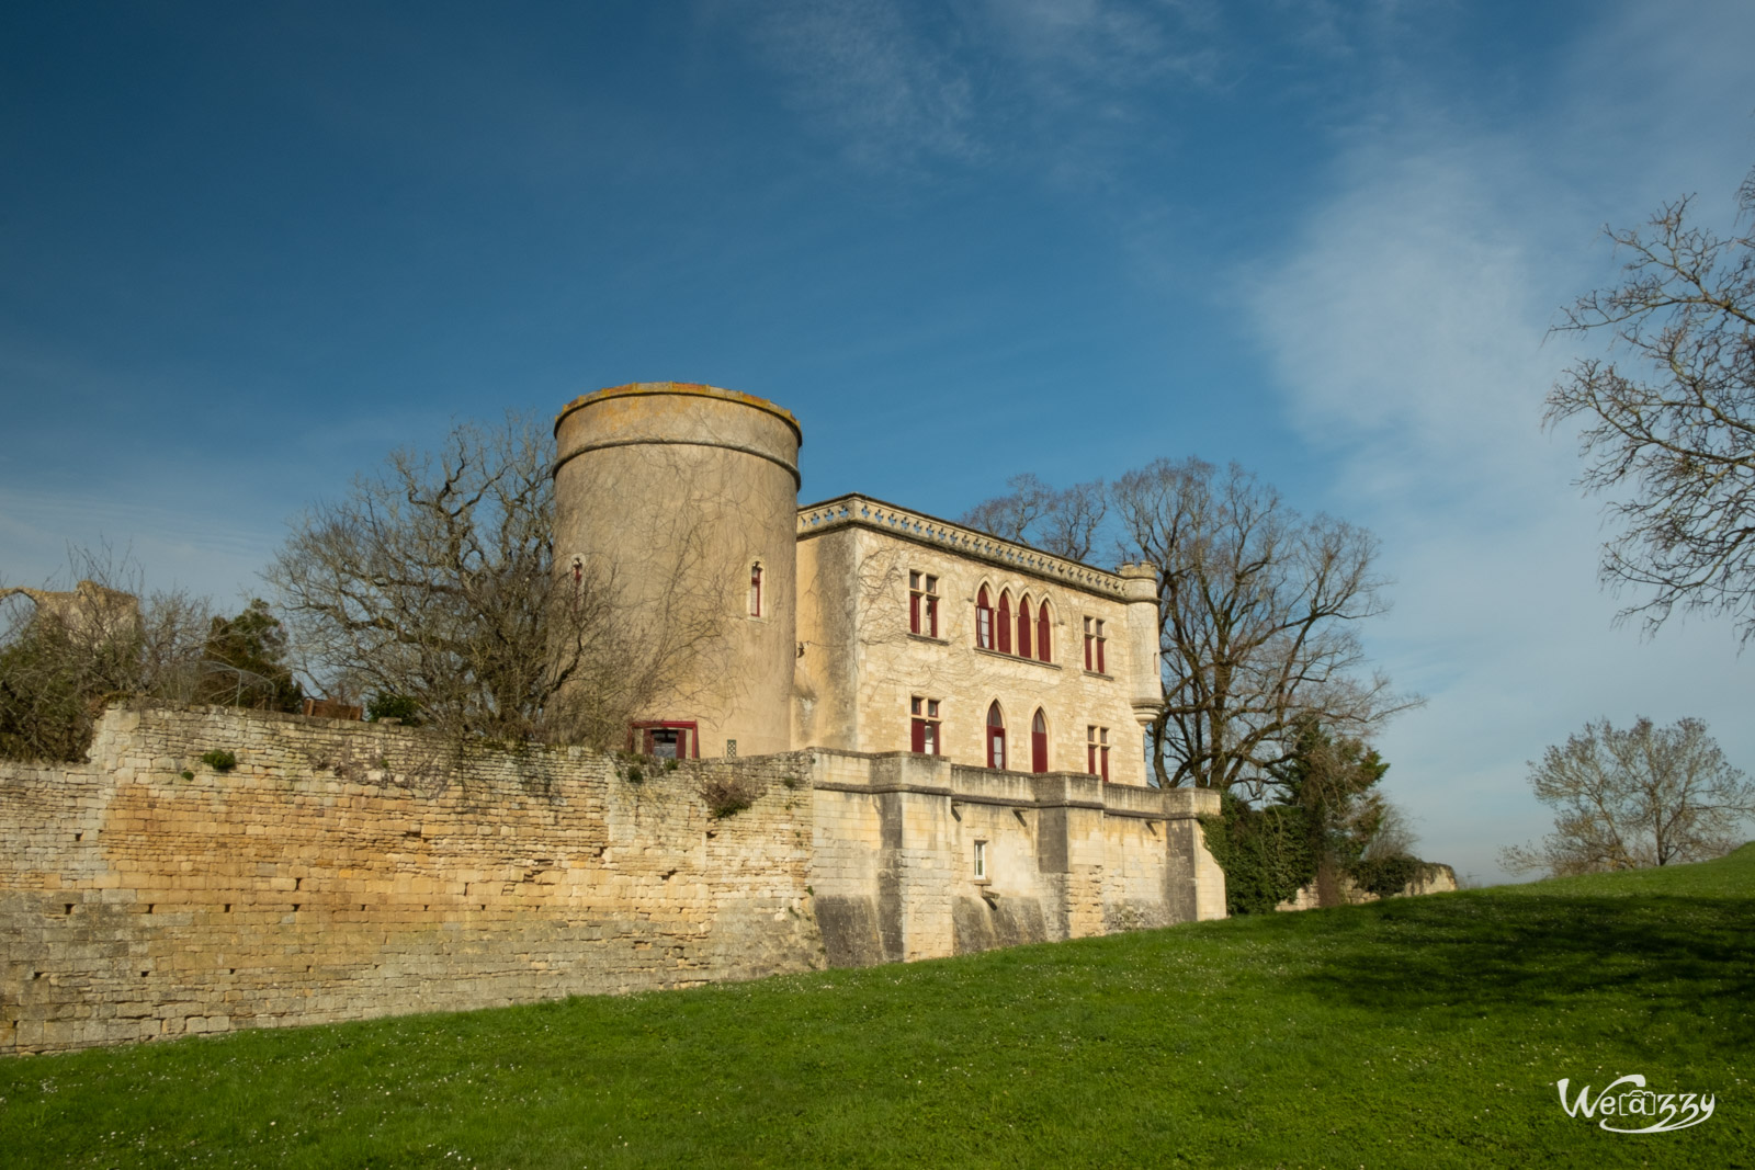
M1200 460L1130 472L1111 500L1123 554L1160 570L1160 784L1258 796L1307 721L1367 738L1422 702L1364 674L1358 623L1388 609L1364 528L1304 519L1250 472Z

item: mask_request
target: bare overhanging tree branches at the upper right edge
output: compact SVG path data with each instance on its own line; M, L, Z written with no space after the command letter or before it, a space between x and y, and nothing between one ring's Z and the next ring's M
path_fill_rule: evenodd
M1608 330L1609 358L1572 365L1546 424L1580 419L1590 491L1611 493L1620 533L1602 579L1643 600L1655 630L1681 605L1755 635L1755 172L1730 237L1688 223L1692 200L1644 230L1606 230L1627 279L1581 296L1564 332ZM1622 361L1615 358L1620 356Z

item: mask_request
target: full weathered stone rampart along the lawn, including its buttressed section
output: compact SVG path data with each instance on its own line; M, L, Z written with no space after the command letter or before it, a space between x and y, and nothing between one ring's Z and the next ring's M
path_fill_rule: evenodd
M751 807L716 819L714 777ZM906 753L458 756L405 728L114 707L90 763L0 765L0 1052L1214 917L1204 796Z

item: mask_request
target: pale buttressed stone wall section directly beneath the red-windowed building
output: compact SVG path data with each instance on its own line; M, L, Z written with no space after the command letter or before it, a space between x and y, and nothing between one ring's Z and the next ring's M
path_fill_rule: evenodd
M1225 916L1211 791L816 751L811 882L835 967ZM985 874L976 847L985 847Z

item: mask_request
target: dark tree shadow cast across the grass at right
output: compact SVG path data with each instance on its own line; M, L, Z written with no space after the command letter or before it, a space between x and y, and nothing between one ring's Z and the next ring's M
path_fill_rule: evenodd
M1653 1014L1720 1003L1736 1009L1720 1012L1725 1040L1755 1044L1755 1016L1743 1010L1755 1002L1750 898L1460 895L1351 912L1378 921L1336 931L1299 977L1329 1000L1492 1010L1606 996Z

